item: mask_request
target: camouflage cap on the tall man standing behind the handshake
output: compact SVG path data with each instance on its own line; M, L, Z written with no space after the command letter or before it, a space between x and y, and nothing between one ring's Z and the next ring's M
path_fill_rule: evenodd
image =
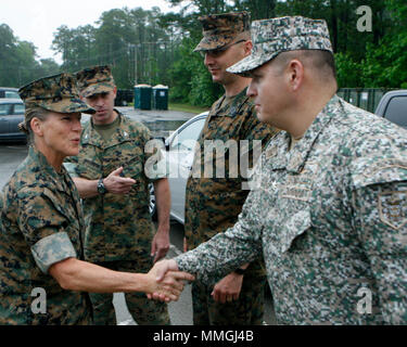
M199 17L203 26L203 39L193 50L209 51L222 48L244 31L250 31L250 13L231 12Z

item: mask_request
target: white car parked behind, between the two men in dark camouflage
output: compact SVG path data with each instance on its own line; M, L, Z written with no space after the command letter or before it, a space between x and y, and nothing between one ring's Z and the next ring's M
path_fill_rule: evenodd
M193 162L193 141L196 141L205 124L208 112L194 116L165 140L166 160L169 170L169 189L171 192L170 216L183 224L186 187ZM150 189L150 213L156 215L154 189Z

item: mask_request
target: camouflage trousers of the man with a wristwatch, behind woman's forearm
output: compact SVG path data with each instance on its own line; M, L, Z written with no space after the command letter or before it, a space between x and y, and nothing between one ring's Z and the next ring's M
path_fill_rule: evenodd
M123 260L98 264L104 268L124 272L148 272L152 265L149 260ZM144 293L126 293L126 304L133 320L139 325L169 325L167 305L149 300ZM90 294L96 325L115 325L116 314L113 306L113 294Z

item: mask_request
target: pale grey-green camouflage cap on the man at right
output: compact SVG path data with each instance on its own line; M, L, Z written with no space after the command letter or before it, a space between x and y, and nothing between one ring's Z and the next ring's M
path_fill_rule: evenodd
M249 73L271 61L281 52L295 50L326 50L333 53L327 22L302 16L254 21L251 55L230 66L227 72Z

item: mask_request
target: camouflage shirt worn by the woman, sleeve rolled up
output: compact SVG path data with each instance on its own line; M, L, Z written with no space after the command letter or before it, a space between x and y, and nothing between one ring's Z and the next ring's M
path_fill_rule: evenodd
M84 216L65 170L56 174L33 147L3 189L0 209L0 324L90 324L87 293L64 291L47 273L71 257L84 259ZM0 204L1 205L1 204ZM34 314L35 288L47 293L47 313Z

